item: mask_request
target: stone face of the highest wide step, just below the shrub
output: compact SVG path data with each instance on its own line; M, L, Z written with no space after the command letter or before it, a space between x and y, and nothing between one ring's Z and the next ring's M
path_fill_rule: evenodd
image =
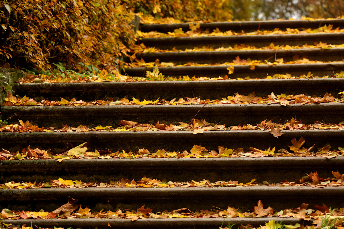
M156 100L174 98L221 99L233 96L236 92L247 95L255 92L266 97L275 95L306 94L322 96L326 92L340 97L338 89L344 88L344 78L325 79L264 79L264 80L206 80L206 81L151 81L151 82L103 82L103 83L45 83L14 84L15 94L34 98L36 101L48 99L60 101L76 98L84 101L96 99L137 98Z

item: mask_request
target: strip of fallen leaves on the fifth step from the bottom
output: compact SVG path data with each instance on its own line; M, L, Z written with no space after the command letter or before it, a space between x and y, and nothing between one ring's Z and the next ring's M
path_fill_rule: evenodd
M344 101L344 92L339 92L341 98L335 98L329 93L325 93L323 97L316 96L307 96L304 94L300 95L286 95L280 94L275 95L271 92L267 97L256 96L255 92L250 93L247 96L239 95L235 93L235 96L228 96L227 98L222 99L201 99L201 98L180 98L172 99L166 101L165 99L157 99L154 101L146 100L140 101L136 98L133 98L132 101L129 101L127 98L122 98L114 101L113 99L109 100L95 100L91 102L85 102L83 100L76 100L75 98L68 101L64 98L61 98L61 101L49 101L41 100L37 102L34 99L29 99L28 97L19 97L19 96L9 96L5 99L5 102L2 106L104 106L104 105L190 105L190 104L203 104L203 105L212 105L212 104L249 104L249 103L258 103L258 104L274 104L279 103L282 106L288 106L289 104L311 104L311 103L329 103L329 102L343 102Z

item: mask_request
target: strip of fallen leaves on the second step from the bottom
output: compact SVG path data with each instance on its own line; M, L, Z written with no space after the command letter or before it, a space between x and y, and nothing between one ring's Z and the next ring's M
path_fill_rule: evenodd
M309 175L305 175L298 181L290 182L288 180L282 181L279 184L270 184L266 181L263 182L265 186L311 186L311 187L318 187L322 188L325 186L344 186L344 174L340 174L338 171L332 171L333 178L320 178L317 172L312 172ZM89 187L114 187L114 188L172 188L172 187L181 187L181 188L189 188L189 187L246 187L246 186L254 186L258 185L255 182L256 179L252 179L248 183L239 183L238 181L216 181L210 182L208 180L203 179L202 181L186 181L186 182L172 182L172 181L160 181L158 179L152 179L143 177L140 181L135 181L130 179L122 178L120 181L110 181L109 183L103 182L82 182L80 180L72 181L72 180L65 180L59 178L57 180L51 180L50 182L45 183L31 183L31 182L18 182L15 183L14 181L4 183L0 185L0 189L35 189L35 188L89 188Z

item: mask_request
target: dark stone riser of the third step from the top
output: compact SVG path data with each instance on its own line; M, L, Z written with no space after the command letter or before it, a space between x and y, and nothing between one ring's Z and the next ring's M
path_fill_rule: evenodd
M166 53L143 53L136 54L138 59L143 58L145 62L173 62L175 64L198 63L215 64L232 62L237 56L240 59L250 58L252 60L274 62L276 58L283 58L284 62L293 61L293 56L300 58L307 56L311 61L341 61L344 58L344 49L301 49L301 50L269 50L269 51L208 51L208 52L166 52Z

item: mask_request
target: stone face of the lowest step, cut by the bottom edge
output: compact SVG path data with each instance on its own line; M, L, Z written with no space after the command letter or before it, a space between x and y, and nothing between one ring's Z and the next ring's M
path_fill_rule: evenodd
M114 209L115 210L115 209ZM135 209L134 209L135 210ZM131 221L130 219L43 219L43 220L3 220L4 223L12 223L12 225L32 225L32 227L73 227L73 228L180 228L180 229L209 229L219 228L221 225L233 225L233 228L238 228L240 225L251 225L252 227L258 227L259 225L265 225L271 218L172 218L172 219L138 219ZM286 225L294 225L296 223L302 223L303 225L310 225L313 220L300 221L297 218L278 218L274 220L276 222L283 222Z

